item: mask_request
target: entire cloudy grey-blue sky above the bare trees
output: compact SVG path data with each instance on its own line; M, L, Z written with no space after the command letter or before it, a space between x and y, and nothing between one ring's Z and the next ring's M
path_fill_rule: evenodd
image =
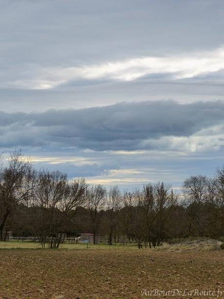
M223 0L0 0L0 150L135 189L224 164Z

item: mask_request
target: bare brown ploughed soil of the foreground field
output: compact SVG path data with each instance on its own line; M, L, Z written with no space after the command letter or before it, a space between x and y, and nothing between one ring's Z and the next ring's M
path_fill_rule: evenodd
M144 289L220 289L224 298L223 270L222 250L0 250L0 298L149 298Z

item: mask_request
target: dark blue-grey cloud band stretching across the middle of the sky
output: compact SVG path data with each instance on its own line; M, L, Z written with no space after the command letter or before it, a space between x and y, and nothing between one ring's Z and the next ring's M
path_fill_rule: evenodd
M118 103L104 107L0 113L0 146L137 150L167 146L164 137L191 137L224 125L224 102ZM216 134L216 129L211 135ZM221 132L217 134L222 134ZM146 143L144 141L147 141Z

